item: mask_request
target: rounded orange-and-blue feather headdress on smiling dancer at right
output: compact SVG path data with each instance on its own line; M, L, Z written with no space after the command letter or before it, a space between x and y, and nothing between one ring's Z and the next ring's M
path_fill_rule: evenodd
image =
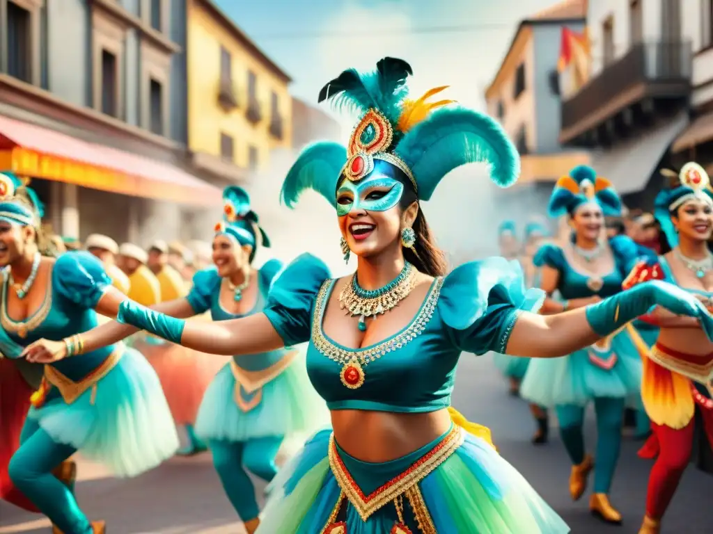
M605 216L619 216L622 202L612 183L588 165L578 165L558 179L547 206L551 217L573 215L583 204L597 204Z

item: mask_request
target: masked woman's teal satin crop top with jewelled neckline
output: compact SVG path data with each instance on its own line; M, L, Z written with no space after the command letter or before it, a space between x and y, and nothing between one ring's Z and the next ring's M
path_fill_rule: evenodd
M329 409L433 412L451 404L461 352L503 352L518 310L536 311L539 289L525 290L517 261L488 258L438 277L411 323L376 345L351 349L322 330L334 289L329 269L309 254L276 279L263 313L286 345L309 341L307 372ZM364 370L364 384L340 379L345 360Z

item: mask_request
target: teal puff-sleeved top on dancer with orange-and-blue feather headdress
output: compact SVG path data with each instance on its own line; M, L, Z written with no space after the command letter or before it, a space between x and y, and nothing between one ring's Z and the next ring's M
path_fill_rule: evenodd
M615 295L622 290L622 282L640 257L634 241L626 236L616 236L609 240L614 256L614 268L612 272L601 276L601 286L599 282L594 282L595 276L577 271L567 260L565 251L560 246L545 244L539 248L533 263L535 266L549 266L560 273L557 289L565 300L573 298L585 298L599 295L602 298Z

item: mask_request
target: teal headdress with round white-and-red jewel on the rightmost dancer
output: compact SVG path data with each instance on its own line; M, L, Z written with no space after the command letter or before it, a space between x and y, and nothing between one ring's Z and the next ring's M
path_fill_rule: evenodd
M697 163L684 164L678 174L670 169L661 169L660 172L667 178L677 179L678 182L674 187L662 189L654 201L654 216L673 247L678 244L678 234L671 215L689 200L696 199L713 205L713 190L708 173Z

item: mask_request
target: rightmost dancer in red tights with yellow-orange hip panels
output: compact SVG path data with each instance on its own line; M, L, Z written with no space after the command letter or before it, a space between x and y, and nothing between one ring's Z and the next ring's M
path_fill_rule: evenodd
M708 174L696 163L672 171L673 184L655 201L656 218L671 250L657 261L642 261L625 281L636 286L665 280L696 295L711 307L713 192ZM656 309L645 320L660 327L655 345L639 340L644 355L641 395L653 434L640 451L655 458L640 534L658 534L661 520L688 466L694 441L694 414L701 414L703 435L713 446L713 344L692 318Z

